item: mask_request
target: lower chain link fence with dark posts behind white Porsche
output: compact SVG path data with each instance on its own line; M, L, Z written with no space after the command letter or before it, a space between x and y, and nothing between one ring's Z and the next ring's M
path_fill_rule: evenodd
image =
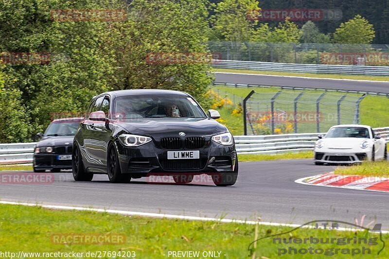
M336 124L359 124L365 95L278 91L243 100L245 135L327 132Z

